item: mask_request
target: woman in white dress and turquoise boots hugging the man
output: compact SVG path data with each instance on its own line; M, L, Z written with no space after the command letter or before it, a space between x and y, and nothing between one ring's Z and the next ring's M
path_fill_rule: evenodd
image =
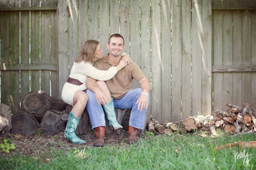
M87 89L85 86L87 76L101 81L109 80L116 74L116 72L131 62L129 55L125 54L117 66L111 67L108 70L98 70L93 67L92 64L96 59L102 58L102 52L103 50L98 41L85 41L81 46L78 55L74 58L74 64L71 68L69 78L63 86L61 98L65 103L73 106L69 113L67 126L64 132L64 138L67 142L70 141L75 144L86 142L77 137L75 131L88 101L88 96L83 91ZM101 86L101 84L104 86L104 83L99 83L98 86ZM99 88L103 89L102 87ZM105 88L105 90L107 89ZM108 92L103 91L103 93ZM108 105L107 98L105 99L105 103ZM109 115L108 113L112 113L112 115ZM116 117L113 115L115 112L108 111L108 113L106 112L107 117L111 119L110 126L114 126L114 129L123 128L117 123Z

